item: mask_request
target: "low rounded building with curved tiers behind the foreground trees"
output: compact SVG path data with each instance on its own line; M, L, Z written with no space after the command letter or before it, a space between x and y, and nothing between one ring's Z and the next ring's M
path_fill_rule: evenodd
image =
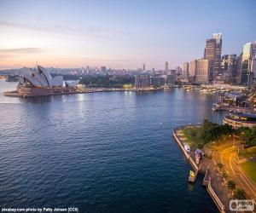
M228 124L233 128L256 126L256 114L247 112L234 112L224 117L223 124Z

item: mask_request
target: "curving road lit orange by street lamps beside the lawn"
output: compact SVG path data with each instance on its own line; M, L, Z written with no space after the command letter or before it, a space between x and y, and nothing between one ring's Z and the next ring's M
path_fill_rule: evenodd
M217 147L214 152L213 161L224 164L224 170L228 172L230 178L236 181L236 187L243 188L250 198L256 201L256 184L246 176L236 163L238 144L228 143Z

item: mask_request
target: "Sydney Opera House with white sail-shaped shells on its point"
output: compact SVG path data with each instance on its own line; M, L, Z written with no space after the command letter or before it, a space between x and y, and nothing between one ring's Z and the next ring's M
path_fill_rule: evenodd
M43 66L37 69L26 69L19 77L17 90L12 94L20 97L61 95L76 93L76 83L63 82L62 76L52 77Z

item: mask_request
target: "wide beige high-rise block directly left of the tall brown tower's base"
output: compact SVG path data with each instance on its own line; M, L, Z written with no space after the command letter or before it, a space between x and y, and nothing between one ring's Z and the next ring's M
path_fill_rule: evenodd
M195 82L209 83L209 60L196 60Z

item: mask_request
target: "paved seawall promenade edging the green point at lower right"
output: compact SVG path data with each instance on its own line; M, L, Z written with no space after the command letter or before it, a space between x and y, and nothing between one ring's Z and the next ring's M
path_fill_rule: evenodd
M181 148L183 154L186 156L187 160L189 161L189 164L195 170L195 179L196 179L197 174L200 171L204 173L204 178L203 178L202 185L207 187L207 192L209 193L210 197L212 198L212 201L214 202L214 204L216 204L216 206L218 207L219 212L222 212L222 213L229 212L229 211L226 211L226 210L228 210L228 208L227 208L228 205L224 204L226 202L224 202L224 200L221 200L218 197L218 195L216 193L217 191L214 191L214 189L213 189L214 186L212 187L212 181L211 181L211 175L210 174L214 171L209 170L209 164L207 165L207 169L202 171L203 169L201 170L201 167L206 167L206 164L204 164L205 162L203 162L199 166L197 166L197 164L195 164L195 160L190 156L189 153L187 153L187 151L183 147L183 142L180 139L180 136L178 135L177 131L178 130L183 130L184 128L187 128L189 126L195 126L195 125L179 126L179 127L175 128L173 130L172 135L173 135L175 141L177 142L178 147Z

